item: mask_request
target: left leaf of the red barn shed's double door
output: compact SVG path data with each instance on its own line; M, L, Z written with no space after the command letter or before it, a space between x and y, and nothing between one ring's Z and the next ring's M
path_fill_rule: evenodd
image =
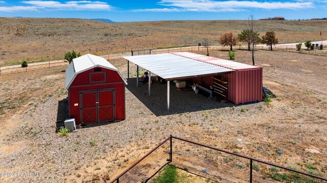
M97 91L80 92L81 124L97 122Z

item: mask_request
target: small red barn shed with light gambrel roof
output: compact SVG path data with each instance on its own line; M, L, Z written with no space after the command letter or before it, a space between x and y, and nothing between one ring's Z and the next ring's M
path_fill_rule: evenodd
M125 119L126 80L106 59L76 58L66 69L69 117L76 125Z

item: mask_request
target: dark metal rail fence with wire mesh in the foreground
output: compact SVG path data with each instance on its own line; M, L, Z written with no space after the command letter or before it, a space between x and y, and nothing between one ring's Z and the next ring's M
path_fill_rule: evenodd
M168 164L217 182L327 182L317 175L172 136L110 182L148 182Z

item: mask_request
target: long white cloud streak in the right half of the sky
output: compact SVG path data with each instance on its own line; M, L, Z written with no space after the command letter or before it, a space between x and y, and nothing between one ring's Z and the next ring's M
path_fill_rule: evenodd
M236 12L249 8L257 9L307 9L314 8L313 2L259 2L259 1L214 1L214 0L161 0L157 3L169 8L138 9L134 12Z

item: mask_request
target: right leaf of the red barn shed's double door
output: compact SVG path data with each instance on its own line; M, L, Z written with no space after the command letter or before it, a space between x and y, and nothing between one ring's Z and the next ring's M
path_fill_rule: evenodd
M98 91L98 122L115 120L115 89Z

